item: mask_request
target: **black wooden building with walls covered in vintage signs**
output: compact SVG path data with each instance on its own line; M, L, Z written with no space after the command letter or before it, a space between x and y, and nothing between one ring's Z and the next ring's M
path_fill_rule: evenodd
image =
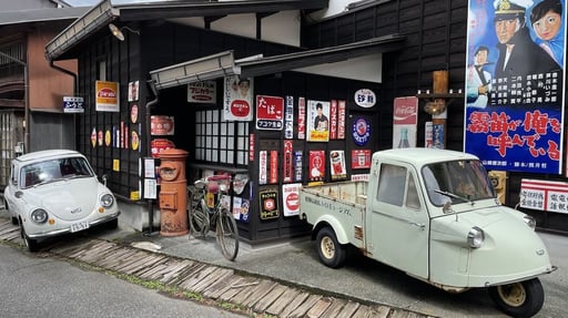
M156 225L152 211L158 206L144 198L141 171L156 140L166 140L187 151L190 182L204 172L246 176L245 188L235 194L239 205L247 207L239 216L243 240L305 235L306 224L286 214L284 186L364 177L368 168L354 163L355 155L393 147L396 98L418 95L422 101L417 92L433 90L433 74L440 70L448 74L449 89L465 89L468 1L356 1L342 13L322 18L331 2L105 0L48 43L49 61L79 61L75 95L84 99L85 110L77 116L77 148L99 174L110 175L109 184L134 227ZM122 32L121 39L111 33L110 23ZM290 105L291 130L285 119L260 121L256 100L251 104L253 119L224 120L225 85L233 76L250 79L256 99L274 98L281 116ZM97 100L98 81L116 85L110 110L102 110ZM189 85L204 82L213 88L207 99L214 102L189 99ZM361 92L372 92L365 95L373 99L371 105L357 103L354 96ZM446 98L453 103L445 147L462 150L463 94ZM344 111L336 134L324 141L304 136L303 124L308 123L297 120L311 119L298 110L308 112L316 102L328 102L329 112ZM424 146L425 123L432 121L422 106L417 146ZM171 120L174 130L151 135L152 116ZM371 132L363 140L353 137L358 123ZM332 175L329 155L335 151L345 156L344 175ZM314 177L311 158L322 154L324 168ZM298 177L290 175L291 167ZM508 175L508 205L518 201L523 177ZM266 197L273 199L270 209L263 206ZM544 227L567 228L561 214L536 216Z

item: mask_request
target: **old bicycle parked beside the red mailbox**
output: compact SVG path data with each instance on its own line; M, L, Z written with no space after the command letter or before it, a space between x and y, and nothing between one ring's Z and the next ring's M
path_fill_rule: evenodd
M234 260L239 254L239 228L236 220L223 203L232 179L230 175L213 175L196 179L187 186L187 213L193 236L206 238L210 229L216 233L223 256Z

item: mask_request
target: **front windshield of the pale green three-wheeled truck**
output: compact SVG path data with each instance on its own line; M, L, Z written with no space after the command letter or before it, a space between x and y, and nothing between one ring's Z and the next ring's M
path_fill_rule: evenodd
M457 204L496 196L487 171L479 161L435 163L424 166L422 173L428 197L437 206L448 201Z

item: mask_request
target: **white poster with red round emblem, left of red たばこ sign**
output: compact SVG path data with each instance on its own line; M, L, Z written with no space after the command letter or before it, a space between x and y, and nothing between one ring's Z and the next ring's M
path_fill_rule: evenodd
M253 119L253 79L236 75L225 76L223 89L223 121L252 121Z

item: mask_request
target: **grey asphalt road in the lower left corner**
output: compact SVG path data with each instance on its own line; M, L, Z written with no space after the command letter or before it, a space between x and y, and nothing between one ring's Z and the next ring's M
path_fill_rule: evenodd
M0 245L0 317L220 317L221 308L166 297L156 290L68 261Z

